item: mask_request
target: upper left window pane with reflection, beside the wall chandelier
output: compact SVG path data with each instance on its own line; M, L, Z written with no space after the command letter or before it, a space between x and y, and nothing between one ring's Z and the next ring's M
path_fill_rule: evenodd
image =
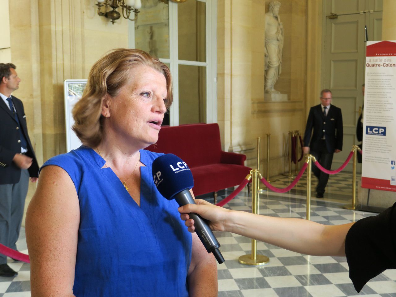
M135 47L158 58L169 59L169 4L142 1L135 21Z

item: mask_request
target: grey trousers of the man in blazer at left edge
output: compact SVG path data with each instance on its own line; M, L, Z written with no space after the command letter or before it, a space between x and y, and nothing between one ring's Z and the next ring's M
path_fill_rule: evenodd
M28 187L27 169L21 170L18 183L0 185L0 243L11 249L17 249ZM0 254L0 264L4 263L7 263L7 257Z

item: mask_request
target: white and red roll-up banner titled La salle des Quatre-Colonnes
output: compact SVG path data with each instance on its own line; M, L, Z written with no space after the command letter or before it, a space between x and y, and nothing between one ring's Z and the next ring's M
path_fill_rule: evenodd
M396 41L367 41L362 187L396 192Z

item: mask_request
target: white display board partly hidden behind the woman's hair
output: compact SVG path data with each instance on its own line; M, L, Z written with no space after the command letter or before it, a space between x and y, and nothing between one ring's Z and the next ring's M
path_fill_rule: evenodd
M65 80L63 85L65 94L65 121L66 121L66 151L74 150L81 146L72 126L74 124L72 109L78 100L81 99L82 92L87 84L87 80Z

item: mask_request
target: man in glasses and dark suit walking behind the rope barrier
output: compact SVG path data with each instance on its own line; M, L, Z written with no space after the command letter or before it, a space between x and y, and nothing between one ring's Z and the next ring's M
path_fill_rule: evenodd
M310 152L320 165L330 169L333 154L341 152L342 149L343 116L341 109L331 105L331 91L323 89L320 92L320 104L309 110L303 152L304 154ZM323 198L329 175L320 171L316 166L312 166L312 172L319 179L316 198Z

